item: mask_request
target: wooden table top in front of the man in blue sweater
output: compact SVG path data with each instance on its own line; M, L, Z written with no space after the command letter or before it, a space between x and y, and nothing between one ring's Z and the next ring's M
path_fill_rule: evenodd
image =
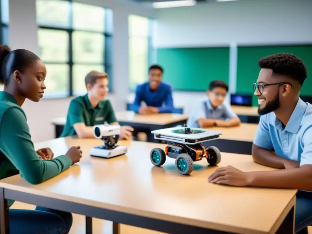
M154 114L154 115L138 115L133 111L116 111L117 121L129 123L142 123L142 124L159 124L166 125L188 119L188 115L183 114ZM65 125L66 117L59 117L52 119L52 124Z

